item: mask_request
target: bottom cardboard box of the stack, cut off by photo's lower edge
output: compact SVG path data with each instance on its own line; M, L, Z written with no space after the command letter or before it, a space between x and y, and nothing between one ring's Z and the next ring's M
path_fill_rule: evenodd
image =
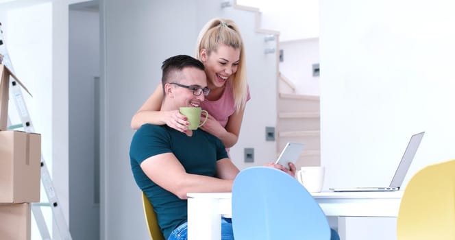
M29 203L0 204L0 239L30 240L31 215Z

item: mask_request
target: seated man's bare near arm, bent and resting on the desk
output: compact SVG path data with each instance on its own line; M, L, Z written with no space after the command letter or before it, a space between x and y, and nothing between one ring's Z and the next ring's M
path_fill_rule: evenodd
M231 175L234 173L232 166L224 162L217 163L219 173L220 164L225 165L222 167L221 176L232 177ZM180 199L186 199L187 193L230 192L234 182L234 178L221 179L186 173L182 164L172 153L151 156L140 163L140 167L153 182Z

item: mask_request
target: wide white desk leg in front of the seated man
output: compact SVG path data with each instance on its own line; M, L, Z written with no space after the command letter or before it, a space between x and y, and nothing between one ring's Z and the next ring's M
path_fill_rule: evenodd
M219 200L188 198L188 240L220 240Z

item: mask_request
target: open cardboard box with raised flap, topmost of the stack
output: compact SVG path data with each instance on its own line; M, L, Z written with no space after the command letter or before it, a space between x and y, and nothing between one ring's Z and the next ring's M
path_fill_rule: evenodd
M28 94L29 91L19 79L5 65L0 64L0 131L7 130L8 125L8 99L10 99L10 76L14 78L14 84L19 83Z

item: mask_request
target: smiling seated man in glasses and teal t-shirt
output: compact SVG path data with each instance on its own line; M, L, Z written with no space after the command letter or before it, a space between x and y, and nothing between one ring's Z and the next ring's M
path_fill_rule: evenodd
M162 64L164 99L161 110L199 106L208 95L204 65L179 55ZM188 130L190 131L190 130ZM149 197L165 239L186 239L186 193L230 192L239 172L217 137L194 130L186 134L167 125L145 124L134 134L130 163L138 187ZM281 165L271 165L294 176ZM222 239L234 239L232 224L223 219Z

